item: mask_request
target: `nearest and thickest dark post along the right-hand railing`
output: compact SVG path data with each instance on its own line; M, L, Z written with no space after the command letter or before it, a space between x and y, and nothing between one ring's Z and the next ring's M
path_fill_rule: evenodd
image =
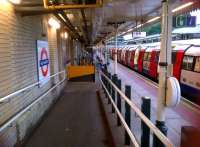
M142 113L150 120L151 117L151 99L149 97L142 97ZM141 134L141 147L149 147L150 143L150 129L142 121L141 122L142 134Z

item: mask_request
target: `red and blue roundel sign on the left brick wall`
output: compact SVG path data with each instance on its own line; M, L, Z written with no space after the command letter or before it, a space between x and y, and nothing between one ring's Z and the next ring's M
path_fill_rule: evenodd
M37 40L38 80L40 85L50 80L50 58L47 41Z

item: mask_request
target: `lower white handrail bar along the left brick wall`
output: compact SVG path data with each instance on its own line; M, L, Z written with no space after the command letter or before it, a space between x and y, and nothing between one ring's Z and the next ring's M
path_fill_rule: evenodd
M37 98L35 101L33 101L31 104L29 104L26 108L24 108L22 111L20 111L19 113L17 113L15 116L13 116L10 120L8 120L6 123L4 123L1 127L0 127L0 132L2 132L5 128L7 128L8 126L10 126L18 117L20 117L22 114L24 114L26 111L28 111L33 105L35 105L37 102L39 102L40 100L42 100L47 94L49 94L49 92L51 92L54 88L56 88L58 85L60 85L61 83L63 83L65 81L65 76L64 79L62 81L60 81L59 83L57 83L55 86L53 86L52 88L50 88L46 93L44 93L43 95L41 95L39 98Z

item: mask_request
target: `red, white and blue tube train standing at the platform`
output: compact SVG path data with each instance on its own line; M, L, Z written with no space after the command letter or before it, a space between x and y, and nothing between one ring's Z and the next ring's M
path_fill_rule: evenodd
M115 47L109 46L114 59ZM118 62L158 81L160 42L123 45L117 49ZM173 76L181 86L182 96L200 105L200 39L172 42Z

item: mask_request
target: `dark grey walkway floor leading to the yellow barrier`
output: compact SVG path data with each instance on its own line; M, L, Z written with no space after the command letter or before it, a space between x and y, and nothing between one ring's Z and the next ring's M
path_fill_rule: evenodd
M113 147L94 83L70 82L25 147Z

